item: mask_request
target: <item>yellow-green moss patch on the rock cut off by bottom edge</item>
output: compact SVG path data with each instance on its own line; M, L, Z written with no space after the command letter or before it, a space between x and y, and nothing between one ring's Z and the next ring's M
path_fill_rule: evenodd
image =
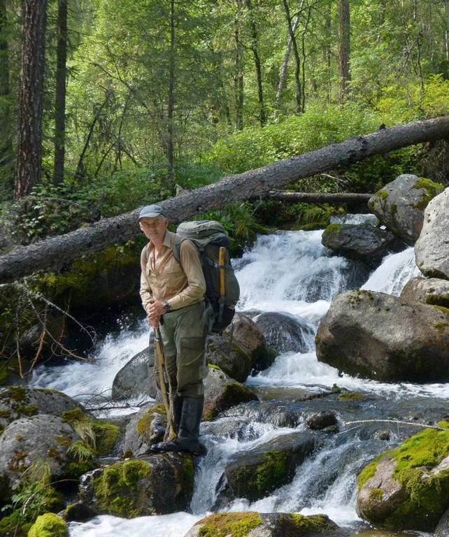
M259 513L218 513L204 520L199 537L246 537L252 529L262 526Z

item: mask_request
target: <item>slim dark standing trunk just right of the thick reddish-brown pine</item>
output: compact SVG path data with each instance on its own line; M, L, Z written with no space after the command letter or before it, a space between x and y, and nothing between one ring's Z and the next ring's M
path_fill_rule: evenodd
M56 50L55 90L55 166L53 182L64 180L66 138L66 78L67 78L67 0L58 1L58 40Z

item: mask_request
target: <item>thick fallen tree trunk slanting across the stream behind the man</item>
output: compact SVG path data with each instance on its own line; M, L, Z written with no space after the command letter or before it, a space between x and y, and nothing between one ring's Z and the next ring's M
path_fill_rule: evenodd
M175 198L160 202L171 222L227 206L233 201L261 198L273 187L292 185L299 179L350 166L371 155L385 154L407 145L449 136L449 117L420 121L356 136L327 145L256 170L245 171ZM99 252L117 243L135 238L139 209L113 218L99 220L89 227L48 238L40 243L15 248L0 257L0 282L11 282L43 268L57 269L90 252Z

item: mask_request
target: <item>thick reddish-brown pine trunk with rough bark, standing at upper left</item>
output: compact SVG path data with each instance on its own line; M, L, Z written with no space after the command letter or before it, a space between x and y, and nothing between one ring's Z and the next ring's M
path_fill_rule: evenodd
M24 0L20 120L15 196L30 194L41 181L43 73L47 0Z

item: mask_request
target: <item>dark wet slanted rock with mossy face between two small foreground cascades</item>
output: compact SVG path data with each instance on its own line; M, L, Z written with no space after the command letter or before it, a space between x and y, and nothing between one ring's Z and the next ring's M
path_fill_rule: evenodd
M290 482L297 466L319 445L315 435L295 432L238 453L224 469L232 494L250 501L264 498Z

